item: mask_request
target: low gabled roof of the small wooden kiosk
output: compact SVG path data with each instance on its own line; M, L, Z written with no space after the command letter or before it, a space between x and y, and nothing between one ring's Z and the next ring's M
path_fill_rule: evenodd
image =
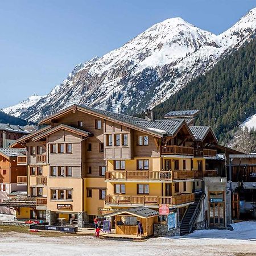
M112 217L120 214L131 214L141 218L150 218L159 216L159 212L146 207L134 207L125 210L118 210L117 212L106 214L105 217Z

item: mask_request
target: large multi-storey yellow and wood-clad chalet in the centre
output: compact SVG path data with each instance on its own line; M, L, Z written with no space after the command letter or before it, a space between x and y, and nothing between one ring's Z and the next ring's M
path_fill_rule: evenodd
M155 214L147 221L154 220L156 235L226 227L229 149L218 144L210 126L194 126L198 112L155 120L150 111L142 119L73 105L44 118L43 128L11 146L27 149L27 197L5 204L19 204L18 218L42 218L49 225L75 220L81 227L108 216L115 226L133 208L150 212L167 205L175 227L159 228Z

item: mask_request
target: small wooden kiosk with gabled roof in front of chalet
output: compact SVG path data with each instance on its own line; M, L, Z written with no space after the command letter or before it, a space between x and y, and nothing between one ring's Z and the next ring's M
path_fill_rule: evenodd
M134 207L106 214L106 218L115 216L115 234L137 235L142 226L143 236L154 234L154 223L158 222L159 212L146 207Z

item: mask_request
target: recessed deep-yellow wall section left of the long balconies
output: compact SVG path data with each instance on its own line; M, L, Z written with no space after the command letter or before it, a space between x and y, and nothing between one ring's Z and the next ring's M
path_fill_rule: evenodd
M92 197L87 197L87 188L92 189ZM84 179L84 211L88 215L98 215L98 208L104 208L104 200L100 200L100 188L106 188L104 177Z

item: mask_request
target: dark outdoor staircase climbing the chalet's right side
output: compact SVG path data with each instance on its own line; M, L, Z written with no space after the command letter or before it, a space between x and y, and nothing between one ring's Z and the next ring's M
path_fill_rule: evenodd
M195 203L189 205L181 221L180 236L184 236L185 234L192 232L193 224L201 210L200 203L202 199L202 192L195 193Z

